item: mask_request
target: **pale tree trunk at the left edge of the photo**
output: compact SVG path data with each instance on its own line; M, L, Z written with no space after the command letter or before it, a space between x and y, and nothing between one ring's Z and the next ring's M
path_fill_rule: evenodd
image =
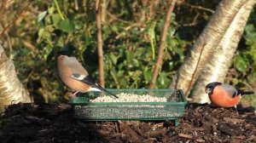
M0 112L4 111L4 106L31 101L29 93L16 75L13 60L7 57L0 43Z

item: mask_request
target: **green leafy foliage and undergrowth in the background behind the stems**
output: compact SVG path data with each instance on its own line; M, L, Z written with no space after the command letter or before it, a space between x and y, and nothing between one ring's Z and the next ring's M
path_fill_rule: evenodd
M156 88L167 88L219 0L179 0L167 32L163 66ZM106 88L148 88L164 24L164 0L102 0L102 40ZM67 88L55 71L55 53L68 49L96 80L96 13L94 1L12 1L1 26L1 40L13 55L16 71L36 101L65 101ZM251 14L226 83L256 90L256 16ZM17 18L15 18L17 17ZM256 106L256 98L248 96Z

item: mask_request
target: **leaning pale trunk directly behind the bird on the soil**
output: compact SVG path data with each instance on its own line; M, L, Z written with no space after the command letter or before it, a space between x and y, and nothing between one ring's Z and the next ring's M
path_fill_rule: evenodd
M194 89L191 91L190 95L193 101L200 103L210 102L208 95L205 93L207 83L216 81L224 82L224 77L236 53L237 45L254 4L255 0L250 0L236 14L235 19L218 44L217 50L212 54L211 60L203 68L202 73L195 83Z

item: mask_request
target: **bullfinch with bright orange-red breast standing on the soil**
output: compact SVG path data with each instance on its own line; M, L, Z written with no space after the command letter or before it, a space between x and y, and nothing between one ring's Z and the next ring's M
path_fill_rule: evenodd
M253 91L244 91L236 89L232 85L213 82L207 84L206 93L209 95L209 98L214 105L220 107L234 106L236 108L241 97L245 94L253 94ZM237 109L236 113L238 114Z

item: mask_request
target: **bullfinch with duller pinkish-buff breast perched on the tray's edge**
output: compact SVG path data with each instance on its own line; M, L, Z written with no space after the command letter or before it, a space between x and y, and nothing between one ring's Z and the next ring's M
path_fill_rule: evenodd
M90 77L89 73L79 63L75 57L67 51L59 51L57 54L57 72L61 81L67 85L70 89L75 90L75 94L89 91L104 91L108 94L118 98L115 94L110 93L108 90L103 89L102 86L95 82Z

